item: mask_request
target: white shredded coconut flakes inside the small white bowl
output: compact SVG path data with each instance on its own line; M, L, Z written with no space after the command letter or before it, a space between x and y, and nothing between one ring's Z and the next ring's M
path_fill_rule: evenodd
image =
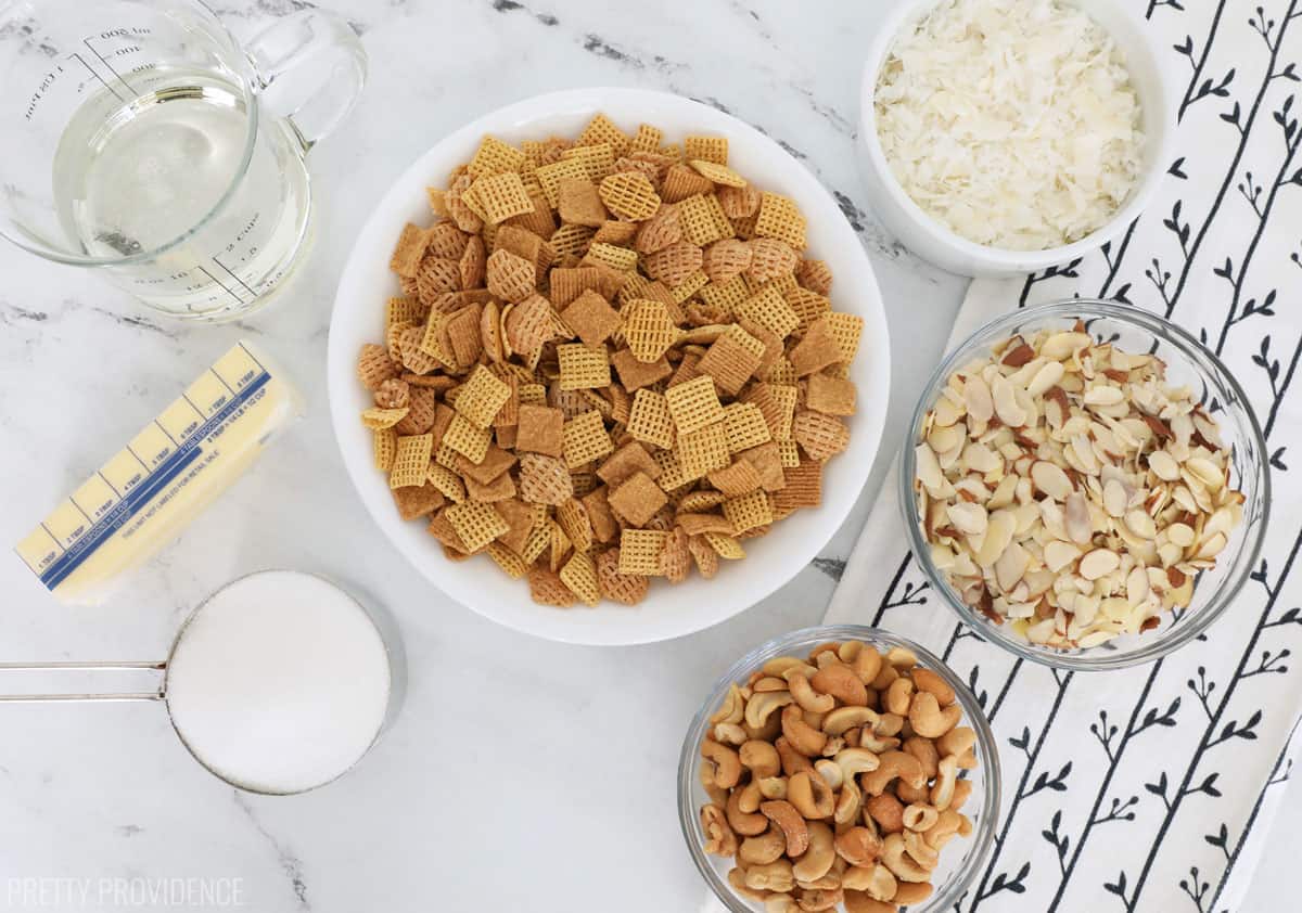
M905 192L1006 250L1112 217L1139 176L1139 113L1120 48L1061 0L941 0L878 75L878 137Z

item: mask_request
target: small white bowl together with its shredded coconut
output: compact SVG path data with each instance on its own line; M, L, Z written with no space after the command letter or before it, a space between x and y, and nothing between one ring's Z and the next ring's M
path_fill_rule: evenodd
M859 160L919 256L1025 273L1125 230L1170 164L1174 120L1124 0L904 0L868 49Z

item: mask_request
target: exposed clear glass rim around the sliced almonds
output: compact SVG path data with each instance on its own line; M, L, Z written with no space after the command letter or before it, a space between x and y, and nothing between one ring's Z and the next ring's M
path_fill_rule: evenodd
M987 349L992 342L1013 336L1019 328L1027 324L1042 324L1073 317L1082 320L1094 317L1115 320L1168 342L1204 376L1204 380L1211 377L1217 385L1233 393L1234 399L1225 403L1225 410L1226 412L1236 414L1236 424L1246 429L1246 437L1259 456L1256 460L1259 467L1255 485L1256 496L1253 503L1243 505L1243 514L1251 516L1254 511L1259 510L1262 519L1254 529L1249 531L1247 538L1240 544L1240 550L1233 555L1233 563L1237 563L1240 567L1237 576L1221 583L1220 590L1213 596L1212 603L1208 603L1199 611L1198 616L1191 618L1187 623L1160 632L1159 636L1144 635L1151 642L1144 644L1137 650L1120 654L1109 653L1100 648L1081 653L1062 653L1060 650L1039 648L1004 633L1001 626L991 624L987 619L978 615L967 603L958 598L944 575L932 564L931 551L922 537L918 505L913 496L913 479L917 471L914 443L918 440L918 429L922 427L922 420L927 410L936 401L941 385L947 382L948 377L960 367L976 358L982 349ZM897 481L900 486L900 512L904 515L904 524L907 529L909 546L913 550L914 561L917 561L918 567L926 575L931 590L958 615L963 624L973 628L983 640L993 641L1005 650L1031 662L1053 668L1078 671L1129 668L1152 662L1180 649L1206 631L1234 601L1234 597L1238 596L1238 592L1247 581L1247 575L1256 567L1262 546L1266 541L1271 509L1271 473L1266 464L1266 437L1262 434L1262 427L1256 420L1256 414L1253 411L1247 394L1240 386L1229 368L1190 333L1165 317L1130 304L1117 304L1098 298L1068 298L1043 304L1029 304L983 324L957 345L931 375L931 378L923 388L922 395L918 398L918 404L913 410L913 416L909 419L907 434L900 453ZM1241 561L1245 549L1249 551L1249 561Z

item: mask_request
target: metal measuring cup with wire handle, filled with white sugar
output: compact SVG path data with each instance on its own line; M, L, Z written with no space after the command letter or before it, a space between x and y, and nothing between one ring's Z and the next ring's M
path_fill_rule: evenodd
M233 787L315 789L352 770L397 717L397 626L333 583L259 571L220 588L160 662L0 663L0 672L159 674L147 691L3 693L0 702L160 701L190 754Z

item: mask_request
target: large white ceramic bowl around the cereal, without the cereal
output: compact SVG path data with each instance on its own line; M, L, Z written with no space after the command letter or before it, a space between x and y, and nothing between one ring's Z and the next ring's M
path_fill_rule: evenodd
M371 433L358 415L370 395L357 382L354 362L363 342L384 337L384 300L398 293L388 269L404 222L426 224L426 186L443 181L491 133L506 142L575 137L596 112L626 131L639 122L665 131L668 142L690 133L728 137L729 164L758 186L792 196L809 218L810 255L832 268L832 304L865 321L863 342L850 371L858 385L858 414L850 420L850 446L833 458L823 480L823 506L802 510L768 536L747 540L747 558L724 562L713 580L693 575L672 587L655 581L642 605L629 609L552 609L535 605L529 587L512 580L487 558L450 562L424 531L404 523L384 475L371 463ZM836 202L799 163L773 140L741 121L697 101L629 88L585 88L540 95L501 108L457 130L415 161L389 189L358 235L344 268L329 330L331 415L344 463L380 529L430 583L501 624L549 640L577 644L639 644L699 631L740 613L796 576L827 544L863 488L881 440L891 390L891 347L872 267Z

